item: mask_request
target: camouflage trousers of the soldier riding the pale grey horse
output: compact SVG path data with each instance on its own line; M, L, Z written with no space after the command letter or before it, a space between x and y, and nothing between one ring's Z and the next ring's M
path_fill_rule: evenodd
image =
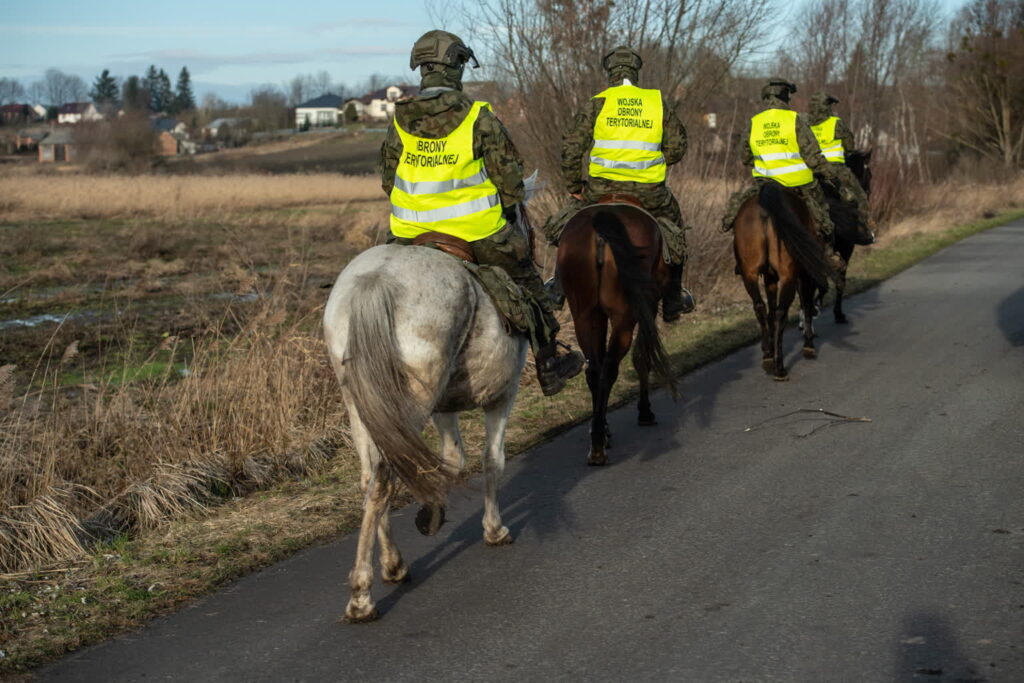
M412 243L411 239L393 234L388 240L388 244L411 245ZM536 356L542 348L554 342L560 326L552 312L551 298L544 289L541 275L534 267L526 236L516 224L510 222L494 234L470 242L469 245L473 249L473 258L479 265L501 268L529 297L530 301L527 302L526 308L530 314L524 323L528 328L526 336ZM501 296L500 293L489 289L487 294L492 297Z

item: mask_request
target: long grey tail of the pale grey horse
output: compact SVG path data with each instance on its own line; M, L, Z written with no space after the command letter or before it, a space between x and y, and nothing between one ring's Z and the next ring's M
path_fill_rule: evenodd
M344 384L380 452L378 476L397 476L421 503L441 504L456 473L423 440L423 407L395 335L395 285L382 273L360 275L348 306Z

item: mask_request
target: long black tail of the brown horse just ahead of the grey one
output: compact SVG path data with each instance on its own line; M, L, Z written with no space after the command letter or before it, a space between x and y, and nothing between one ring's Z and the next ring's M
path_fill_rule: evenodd
M626 226L618 216L611 211L599 211L594 216L593 225L594 231L611 248L611 254L615 258L615 268L618 270L618 285L623 288L626 301L637 321L635 353L665 381L675 398L678 395L676 378L672 374L669 354L657 333L654 279L637 255L636 248L630 242Z

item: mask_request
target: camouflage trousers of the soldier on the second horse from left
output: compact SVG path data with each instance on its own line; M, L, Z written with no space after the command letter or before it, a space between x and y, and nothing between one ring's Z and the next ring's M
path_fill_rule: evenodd
M583 200L569 198L568 203L555 212L542 228L548 244L557 245L565 223L580 211L611 193L625 193L640 200L644 208L657 219L665 245L666 260L680 264L686 258L686 227L679 211L679 202L665 183L612 182L592 178L583 193Z

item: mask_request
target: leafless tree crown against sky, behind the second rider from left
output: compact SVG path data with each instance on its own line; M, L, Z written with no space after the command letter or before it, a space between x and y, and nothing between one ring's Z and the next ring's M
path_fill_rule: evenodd
M570 117L606 85L607 50L630 45L643 55L643 85L699 109L758 46L770 8L770 0L484 0L465 4L460 24L486 73L514 90L503 115L531 141L523 153L553 171Z

